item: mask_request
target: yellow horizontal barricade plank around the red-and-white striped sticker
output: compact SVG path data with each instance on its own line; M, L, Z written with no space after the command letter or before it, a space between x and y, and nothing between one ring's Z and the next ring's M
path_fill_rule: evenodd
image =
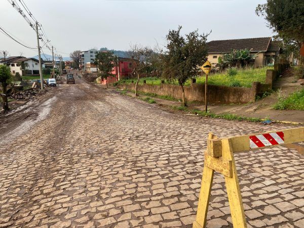
M304 141L304 127L278 130L278 131L282 131L284 133L285 144ZM230 139L234 153L238 153L245 150L251 150L249 143L249 136L260 135L265 133L276 133L278 131L262 132L257 134L235 136L235 137L229 137L223 139ZM275 146L275 145L271 145L271 146ZM259 148L263 148L263 147L259 147Z

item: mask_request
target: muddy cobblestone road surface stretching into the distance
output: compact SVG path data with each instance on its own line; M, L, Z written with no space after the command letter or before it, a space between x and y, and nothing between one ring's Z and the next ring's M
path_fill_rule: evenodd
M0 227L192 227L208 132L286 128L170 113L78 81L55 96L46 118L0 142ZM236 162L248 227L304 226L303 155L278 146ZM211 194L207 227L232 227L219 174Z

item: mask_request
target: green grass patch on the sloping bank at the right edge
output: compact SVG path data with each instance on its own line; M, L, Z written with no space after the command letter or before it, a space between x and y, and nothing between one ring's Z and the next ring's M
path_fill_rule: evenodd
M294 92L288 97L279 98L279 101L273 108L280 110L304 110L304 89Z

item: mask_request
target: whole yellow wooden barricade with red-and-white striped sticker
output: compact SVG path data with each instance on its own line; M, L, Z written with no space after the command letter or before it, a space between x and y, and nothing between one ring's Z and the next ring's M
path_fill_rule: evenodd
M233 226L247 227L234 153L304 141L304 127L218 139L209 133L194 228L206 226L214 171L224 175Z

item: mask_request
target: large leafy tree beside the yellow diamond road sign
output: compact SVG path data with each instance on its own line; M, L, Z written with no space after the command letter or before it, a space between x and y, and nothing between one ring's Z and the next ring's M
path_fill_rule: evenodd
M199 34L198 30L180 35L181 26L177 30L169 30L166 36L167 51L163 56L163 77L169 81L177 81L182 89L182 105L185 106L183 85L199 73L199 67L206 60L206 41L209 34Z

